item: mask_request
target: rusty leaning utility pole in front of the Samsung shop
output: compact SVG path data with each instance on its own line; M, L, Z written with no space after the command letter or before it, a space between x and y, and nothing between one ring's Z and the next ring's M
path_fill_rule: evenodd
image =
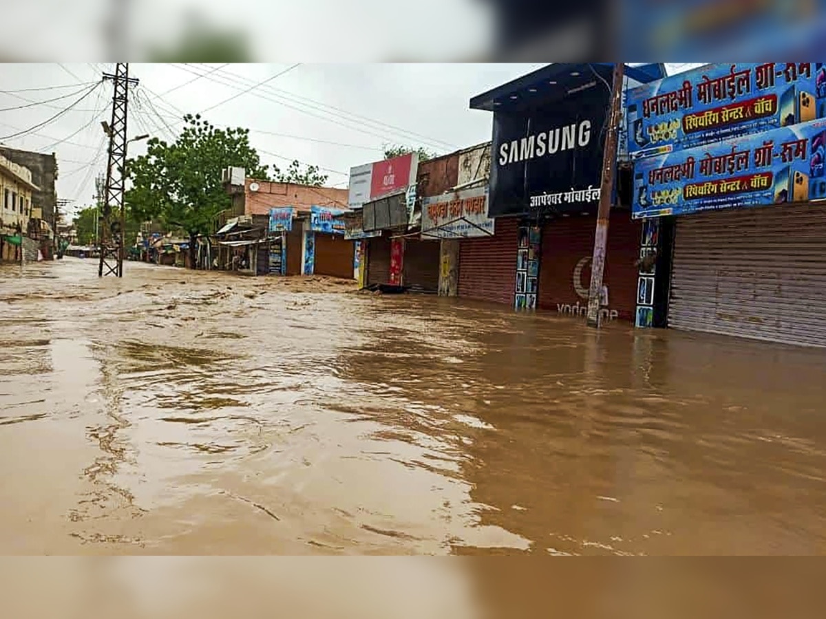
M605 272L605 254L608 246L608 219L611 213L611 193L614 188L614 172L616 170L619 120L622 114L624 69L624 63L614 64L614 83L611 85L608 134L605 136L605 152L602 154L600 207L596 214L594 256L591 260L591 289L588 292L588 326L596 328L600 326L602 276Z

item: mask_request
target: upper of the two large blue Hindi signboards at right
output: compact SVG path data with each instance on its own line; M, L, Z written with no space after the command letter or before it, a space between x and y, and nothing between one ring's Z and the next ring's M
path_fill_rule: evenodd
M824 63L710 64L629 90L629 154L657 156L824 117Z

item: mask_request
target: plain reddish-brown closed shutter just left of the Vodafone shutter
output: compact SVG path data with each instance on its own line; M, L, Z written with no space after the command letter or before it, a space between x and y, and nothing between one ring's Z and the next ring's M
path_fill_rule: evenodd
M513 304L518 227L513 218L498 219L493 236L459 241L459 296Z

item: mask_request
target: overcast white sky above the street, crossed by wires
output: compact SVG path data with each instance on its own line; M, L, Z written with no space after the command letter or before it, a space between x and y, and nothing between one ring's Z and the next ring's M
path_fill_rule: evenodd
M58 196L74 201L70 210L92 203L94 178L105 171L100 121L111 114L112 84L104 83L34 132L4 136L55 116L83 94L78 94L82 83L99 80L113 66L0 64L0 143L55 152ZM131 76L140 84L130 97L128 133L169 140L170 130L181 126L180 111L200 112L220 103L206 112L207 120L249 128L263 163L286 168L296 158L325 168L328 185L347 187L349 168L381 159L382 144L421 145L444 154L490 139L491 114L468 109L470 97L543 65L292 66L130 64ZM211 73L197 77L207 72ZM273 79L244 92L268 78ZM55 86L62 88L26 90ZM221 103L234 95L238 96ZM55 97L64 98L49 102ZM45 103L32 106L33 102ZM145 144L130 144L130 156L144 151Z

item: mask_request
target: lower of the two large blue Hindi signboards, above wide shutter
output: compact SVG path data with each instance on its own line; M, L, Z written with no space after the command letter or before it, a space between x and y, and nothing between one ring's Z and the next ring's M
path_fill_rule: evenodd
M634 218L826 200L826 120L640 159Z

